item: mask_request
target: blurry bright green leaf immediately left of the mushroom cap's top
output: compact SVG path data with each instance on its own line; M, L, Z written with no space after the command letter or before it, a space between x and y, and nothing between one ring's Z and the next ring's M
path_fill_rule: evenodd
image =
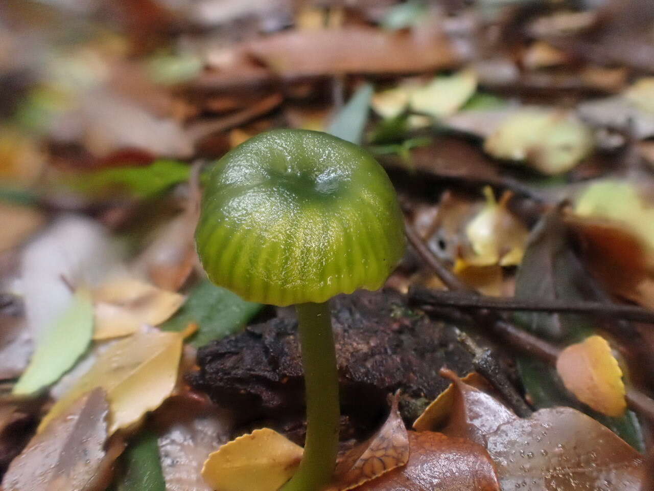
M94 196L126 191L138 198L150 198L169 187L188 181L190 168L175 160L155 160L146 167L118 167L78 177L73 183Z

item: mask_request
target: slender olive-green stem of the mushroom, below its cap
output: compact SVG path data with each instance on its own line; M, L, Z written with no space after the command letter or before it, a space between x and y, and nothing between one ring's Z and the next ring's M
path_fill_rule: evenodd
M307 403L307 437L300 467L281 491L317 491L332 479L340 408L329 302L296 306Z

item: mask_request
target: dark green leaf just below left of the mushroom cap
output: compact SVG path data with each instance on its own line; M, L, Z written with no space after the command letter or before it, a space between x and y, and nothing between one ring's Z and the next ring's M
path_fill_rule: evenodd
M191 344L204 346L209 341L236 333L261 308L262 304L246 302L235 293L203 280L161 329L183 331L189 323L195 322L198 332L191 338Z

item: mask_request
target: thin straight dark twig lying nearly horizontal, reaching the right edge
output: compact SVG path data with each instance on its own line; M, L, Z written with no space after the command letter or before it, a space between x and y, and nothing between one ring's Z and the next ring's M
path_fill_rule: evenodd
M571 312L594 314L630 321L654 323L654 312L632 305L604 304L602 302L565 302L561 300L523 300L502 297L461 295L451 291L436 291L424 287L411 287L409 297L418 303L456 306L485 310L528 310L532 312Z

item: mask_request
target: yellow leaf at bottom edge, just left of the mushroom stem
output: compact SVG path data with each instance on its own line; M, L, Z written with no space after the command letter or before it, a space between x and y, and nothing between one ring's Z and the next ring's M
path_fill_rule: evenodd
M209 455L202 477L220 491L277 491L295 472L302 451L277 431L255 429Z

